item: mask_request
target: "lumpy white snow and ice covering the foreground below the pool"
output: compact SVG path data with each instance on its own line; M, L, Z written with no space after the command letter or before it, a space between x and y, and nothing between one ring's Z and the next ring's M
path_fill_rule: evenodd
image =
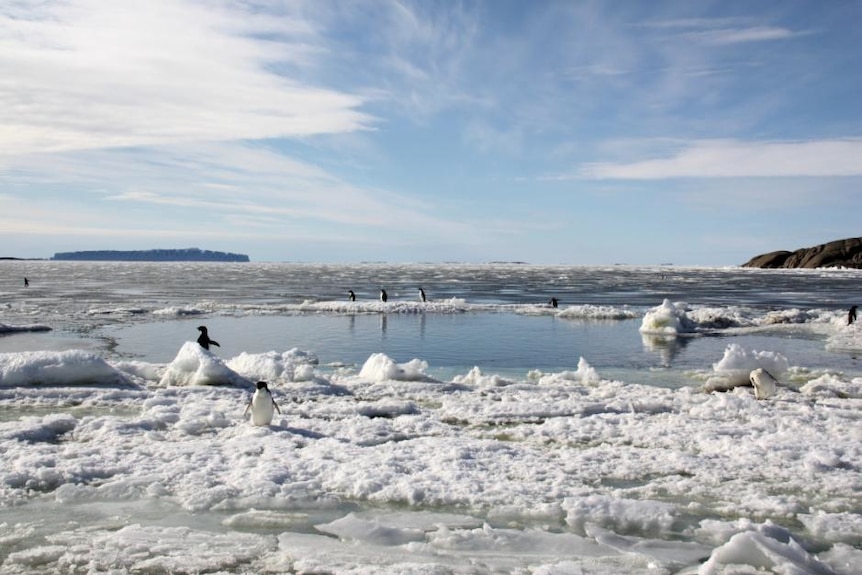
M714 369L755 364L785 360L731 344ZM0 522L4 573L827 574L850 572L862 542L862 448L847 433L862 399L836 399L858 380L824 376L759 402L603 379L584 358L572 372L509 381L475 368L446 383L418 359L374 354L324 376L298 349L222 361L193 342L147 369L78 351L0 354L0 366L10 392L84 378L101 406L0 427L14 504ZM258 378L282 407L265 427L242 418ZM34 497L163 512L52 528L15 514ZM359 508L342 512L347 502ZM177 513L222 519L213 532ZM767 517L796 517L819 543L756 519Z

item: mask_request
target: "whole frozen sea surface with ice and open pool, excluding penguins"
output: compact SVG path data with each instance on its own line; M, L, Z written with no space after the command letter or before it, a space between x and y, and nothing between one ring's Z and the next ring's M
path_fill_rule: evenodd
M0 271L0 573L860 572L860 272Z

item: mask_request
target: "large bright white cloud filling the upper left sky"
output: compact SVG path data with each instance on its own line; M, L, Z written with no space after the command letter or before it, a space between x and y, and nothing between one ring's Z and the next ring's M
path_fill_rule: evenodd
M360 97L272 71L303 65L310 34L244 4L0 6L0 154L369 127Z

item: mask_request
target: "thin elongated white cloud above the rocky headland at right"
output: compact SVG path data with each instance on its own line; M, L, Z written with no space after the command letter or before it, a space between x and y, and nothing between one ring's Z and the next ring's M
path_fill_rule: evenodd
M581 166L597 180L862 176L862 139L789 142L705 140L667 157Z

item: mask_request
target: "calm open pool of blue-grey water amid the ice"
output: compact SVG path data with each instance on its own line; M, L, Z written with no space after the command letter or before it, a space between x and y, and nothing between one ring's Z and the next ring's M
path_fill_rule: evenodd
M113 353L168 363L182 343L193 340L200 319L112 328ZM550 316L497 313L457 315L298 315L213 317L210 335L221 343L213 351L224 358L242 352L311 351L322 369L359 368L371 354L385 353L399 363L426 361L427 373L446 380L473 366L483 373L523 379L530 370L576 370L581 357L603 377L678 387L702 383L690 371L703 372L721 360L726 347L776 351L792 365L856 373L850 354L824 350L824 338L807 333L756 333L733 336L687 336L655 339L638 332L640 320L579 321ZM217 336L217 337L216 337Z

